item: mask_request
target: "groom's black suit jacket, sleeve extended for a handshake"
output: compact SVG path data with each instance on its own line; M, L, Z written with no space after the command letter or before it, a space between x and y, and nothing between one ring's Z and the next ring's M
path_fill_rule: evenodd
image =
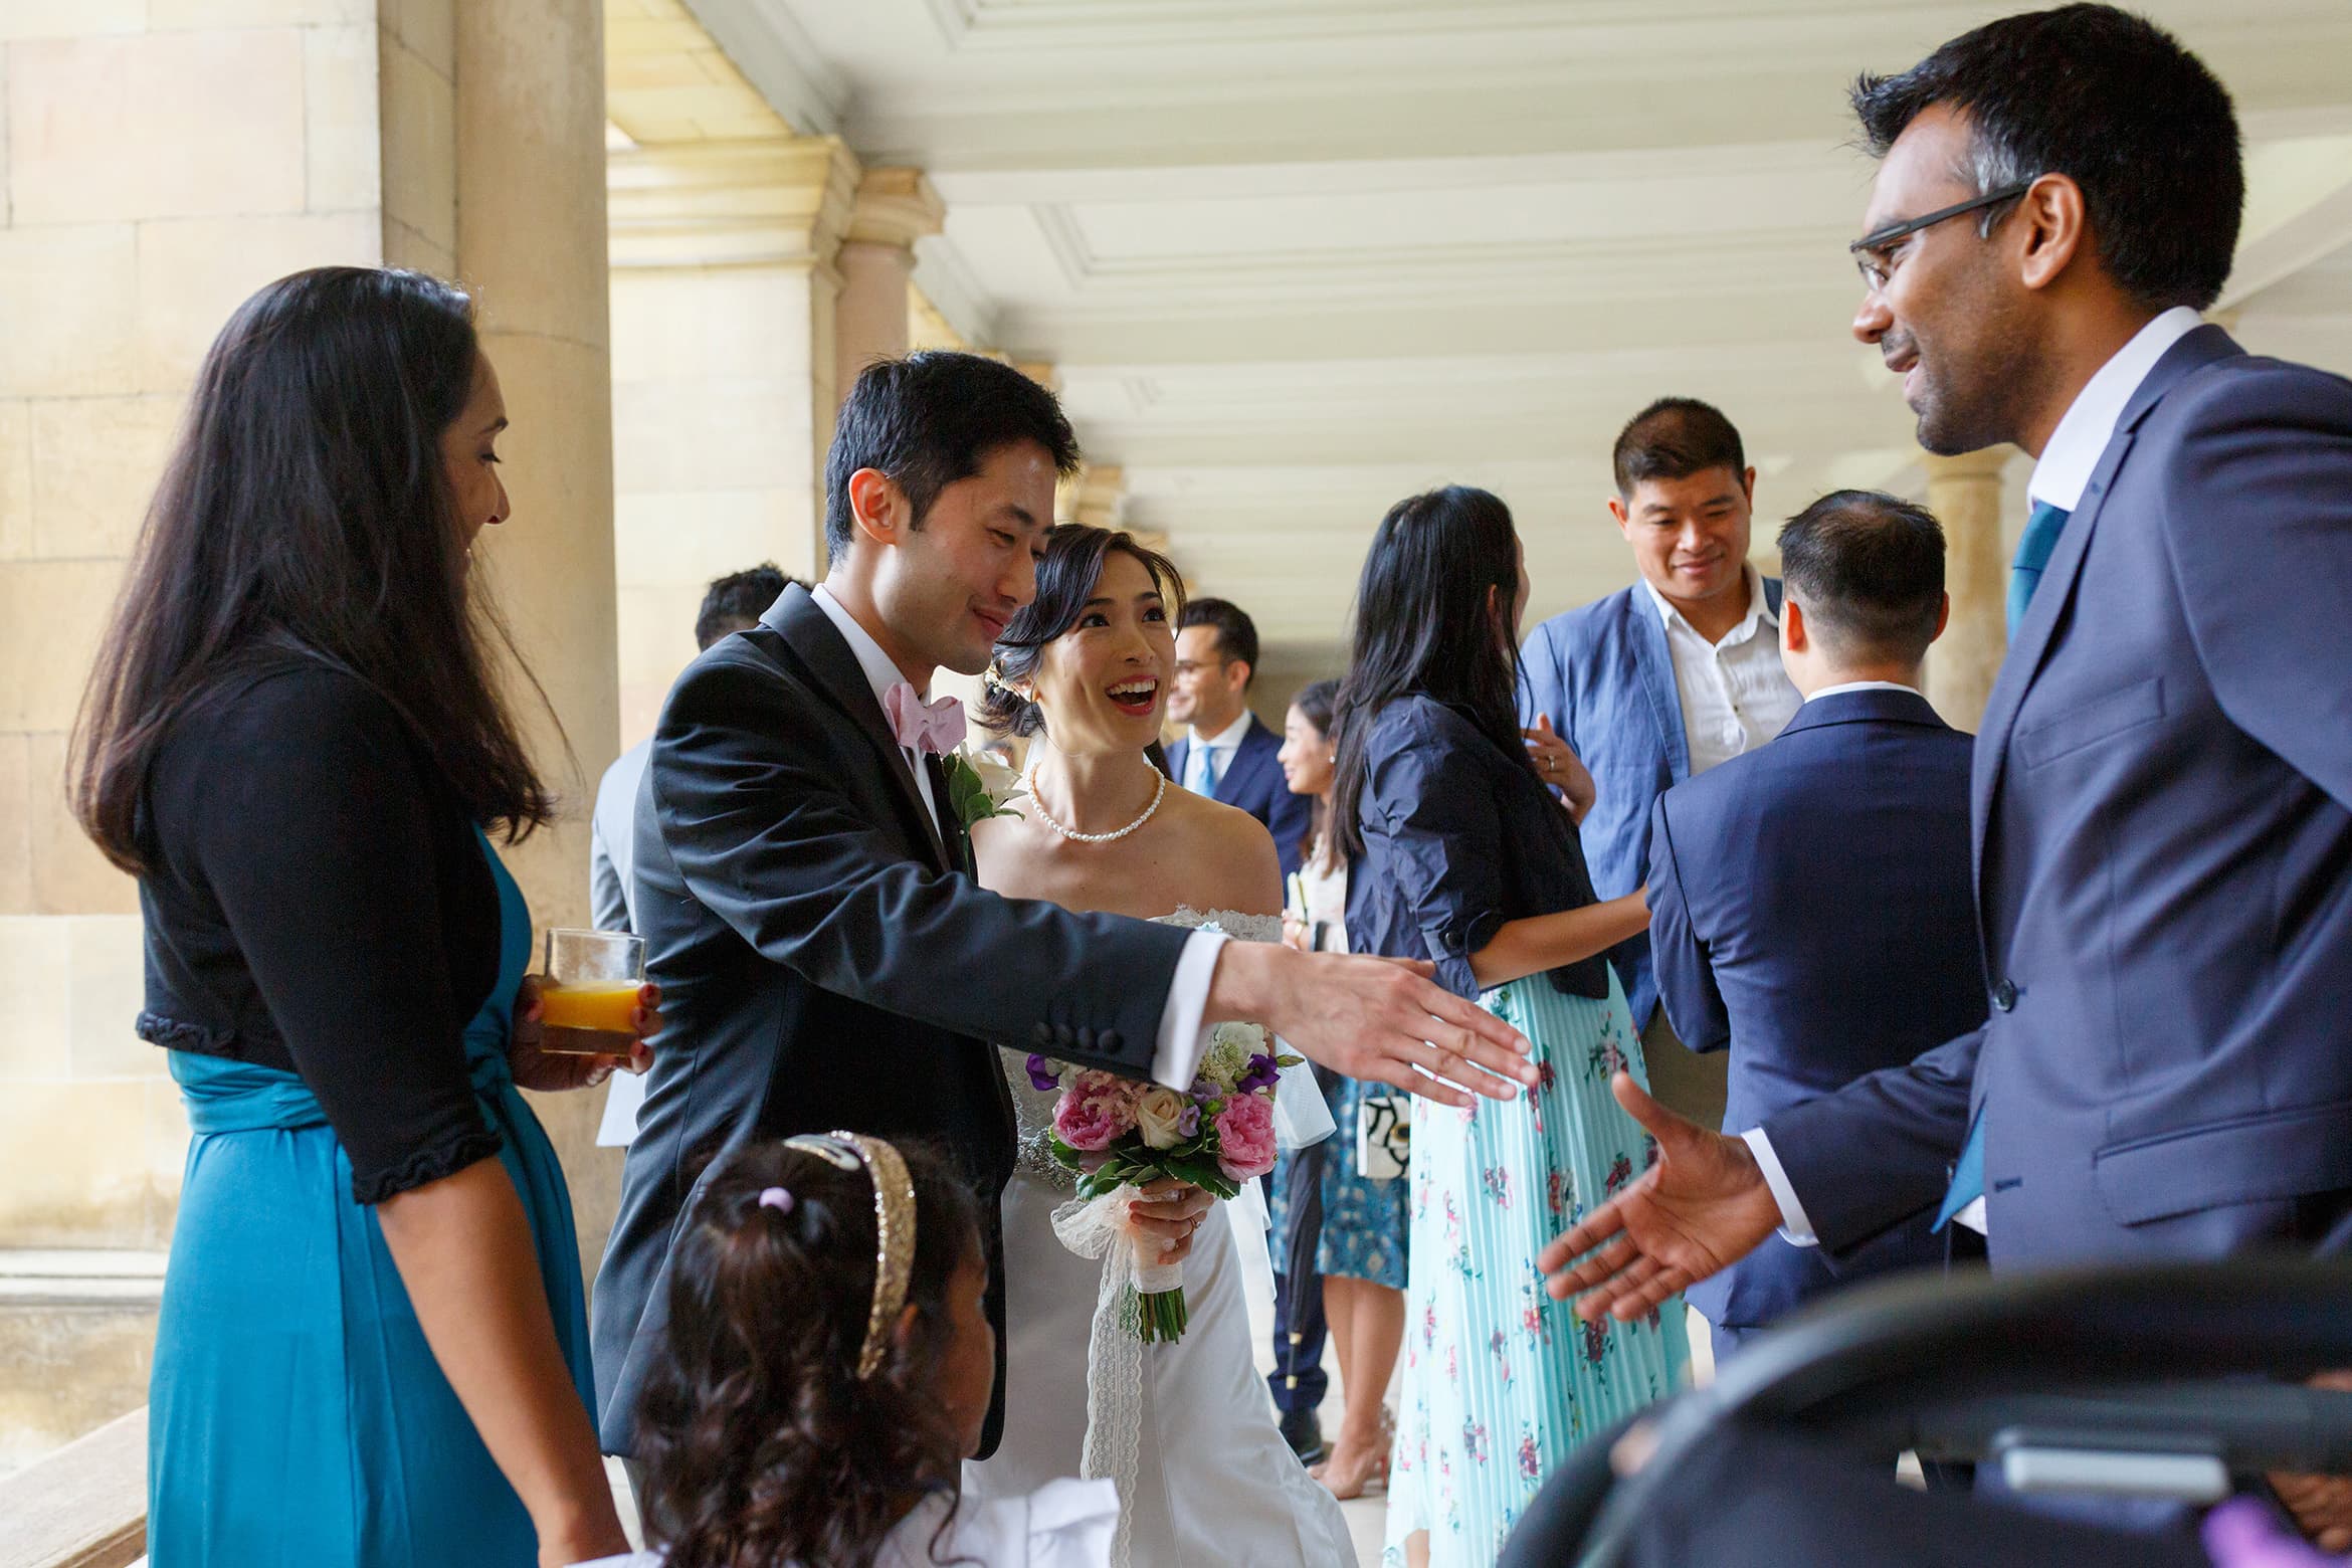
M946 788L934 771L934 797ZM595 1281L597 1425L630 1453L670 1241L715 1157L847 1128L943 1145L981 1199L1004 1406L997 1194L1014 1114L988 1041L1150 1077L1188 931L997 898L960 870L849 644L802 588L670 691L637 792L661 1034ZM870 1267L854 1262L851 1267Z

